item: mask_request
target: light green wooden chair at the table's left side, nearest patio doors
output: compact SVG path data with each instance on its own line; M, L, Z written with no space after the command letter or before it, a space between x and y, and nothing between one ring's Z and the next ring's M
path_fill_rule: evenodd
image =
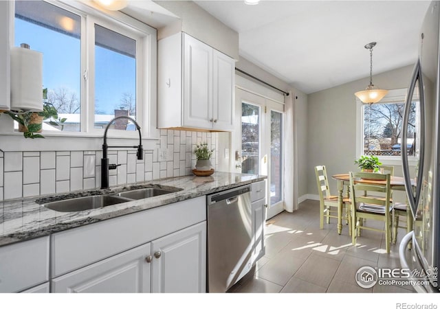
M330 218L339 217L341 220L347 220L349 225L349 233L351 233L351 216L349 198L342 199L342 207L339 209L338 196L331 195L329 190L329 179L327 178L327 170L325 165L315 166L316 185L318 185L319 205L320 205L320 229L324 228L324 219L327 219L327 224L330 223ZM342 210L345 209L345 214Z

